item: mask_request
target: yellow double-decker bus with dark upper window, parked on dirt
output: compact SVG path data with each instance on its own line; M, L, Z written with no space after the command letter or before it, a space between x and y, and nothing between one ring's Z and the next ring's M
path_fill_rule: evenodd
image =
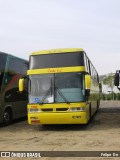
M83 49L33 52L27 75L29 124L87 124L98 110L99 77Z

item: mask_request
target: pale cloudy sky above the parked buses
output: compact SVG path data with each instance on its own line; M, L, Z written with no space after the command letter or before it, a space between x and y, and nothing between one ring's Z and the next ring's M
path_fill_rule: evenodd
M120 0L0 0L0 51L83 48L99 75L120 69Z

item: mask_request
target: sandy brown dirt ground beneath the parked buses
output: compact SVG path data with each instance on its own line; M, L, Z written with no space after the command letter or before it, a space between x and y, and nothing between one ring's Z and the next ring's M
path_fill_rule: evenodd
M102 101L99 111L88 125L42 127L28 125L26 119L21 119L7 127L0 127L0 151L120 151L120 101ZM120 157L42 159L99 160Z

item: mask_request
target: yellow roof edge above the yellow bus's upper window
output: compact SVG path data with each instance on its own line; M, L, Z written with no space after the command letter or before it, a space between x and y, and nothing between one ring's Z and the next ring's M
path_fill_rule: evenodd
M51 50L42 50L33 52L32 55L38 55L38 54L51 54L51 53L62 53L62 52L77 52L77 51L83 51L82 48L60 48L60 49L51 49Z

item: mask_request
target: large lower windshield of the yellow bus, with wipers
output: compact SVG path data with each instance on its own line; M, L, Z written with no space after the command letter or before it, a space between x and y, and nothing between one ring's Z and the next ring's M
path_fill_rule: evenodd
M29 78L30 104L70 103L85 100L83 73L31 75Z

